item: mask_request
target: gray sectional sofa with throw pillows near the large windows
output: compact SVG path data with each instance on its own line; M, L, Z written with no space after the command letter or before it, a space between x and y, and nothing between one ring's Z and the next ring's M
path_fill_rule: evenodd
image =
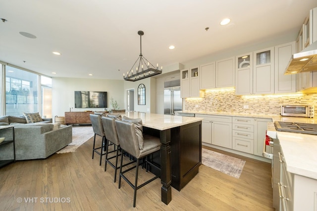
M7 116L14 126L16 160L45 159L72 142L72 126L52 123L43 119L37 123L23 123L23 116ZM3 117L0 117L0 123ZM4 118L5 119L5 118ZM13 122L10 122L10 120ZM25 120L25 119L24 119ZM5 121L5 120L4 120ZM0 130L0 137L10 137L10 131ZM12 146L0 147L0 160L13 159Z

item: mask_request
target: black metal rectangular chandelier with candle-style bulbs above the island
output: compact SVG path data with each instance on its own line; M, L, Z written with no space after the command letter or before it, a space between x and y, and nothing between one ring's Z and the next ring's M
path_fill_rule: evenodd
M157 64L157 67L155 67L142 55L141 38L142 35L144 35L144 32L138 31L138 35L140 35L140 55L139 58L134 62L130 71L127 72L127 75L124 76L123 74L123 79L125 81L136 82L141 79L146 79L151 76L156 76L162 73L162 67L160 67L159 70L159 64Z

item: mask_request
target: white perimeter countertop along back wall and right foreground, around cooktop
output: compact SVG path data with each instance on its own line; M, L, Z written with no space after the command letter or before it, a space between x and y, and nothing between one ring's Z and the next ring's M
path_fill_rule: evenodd
M276 131L274 122L317 124L317 117L282 117L280 115L237 114L224 112L181 111L182 113L238 116L271 119L267 124L267 134L280 140L287 171L317 179L317 135ZM275 137L274 137L275 136Z

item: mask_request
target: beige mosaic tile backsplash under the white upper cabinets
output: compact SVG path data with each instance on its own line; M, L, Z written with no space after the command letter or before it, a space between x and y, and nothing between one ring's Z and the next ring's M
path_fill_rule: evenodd
M203 98L186 98L185 110L279 115L282 105L313 105L317 117L317 93L235 95L235 89L206 90Z

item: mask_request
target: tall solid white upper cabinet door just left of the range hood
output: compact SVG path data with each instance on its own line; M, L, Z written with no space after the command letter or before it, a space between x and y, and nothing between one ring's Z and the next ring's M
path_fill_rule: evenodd
M296 74L284 75L290 58L296 52L296 43L289 42L274 47L274 93L295 93Z

